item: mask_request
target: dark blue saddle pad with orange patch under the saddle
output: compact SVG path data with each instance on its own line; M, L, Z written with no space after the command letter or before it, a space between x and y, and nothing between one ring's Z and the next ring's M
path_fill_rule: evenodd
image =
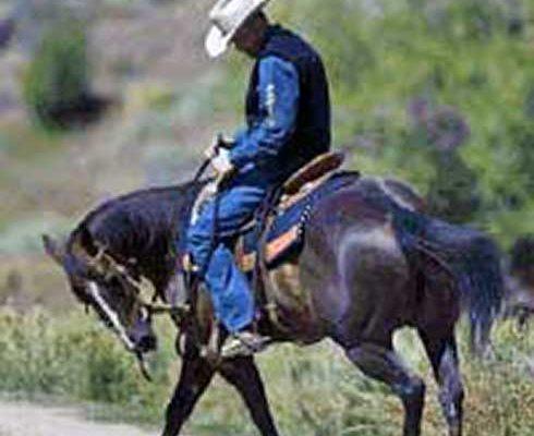
M296 255L304 242L305 227L313 207L317 202L336 191L353 183L357 172L329 173L305 186L304 193L295 197L283 198L276 209L276 215L268 225L265 242L265 262L268 268L276 268L292 255ZM243 271L251 271L256 264L256 255L262 229L258 226L245 231L235 247L235 258Z

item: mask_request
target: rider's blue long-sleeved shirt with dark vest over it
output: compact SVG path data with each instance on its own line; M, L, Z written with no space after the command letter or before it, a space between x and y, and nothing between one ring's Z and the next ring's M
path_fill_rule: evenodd
M242 172L279 183L330 147L330 100L315 50L280 26L267 31L246 96L246 129L230 159Z

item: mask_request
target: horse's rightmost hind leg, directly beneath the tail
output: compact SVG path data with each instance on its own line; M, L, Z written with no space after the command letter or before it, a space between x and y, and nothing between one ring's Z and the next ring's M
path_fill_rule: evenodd
M445 339L432 338L421 330L420 335L439 385L439 402L449 426L449 436L461 436L463 384L454 335L451 332Z

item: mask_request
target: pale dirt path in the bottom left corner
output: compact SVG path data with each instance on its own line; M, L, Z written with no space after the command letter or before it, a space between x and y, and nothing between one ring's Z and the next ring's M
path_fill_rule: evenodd
M156 436L125 424L88 421L82 409L0 401L0 436Z

